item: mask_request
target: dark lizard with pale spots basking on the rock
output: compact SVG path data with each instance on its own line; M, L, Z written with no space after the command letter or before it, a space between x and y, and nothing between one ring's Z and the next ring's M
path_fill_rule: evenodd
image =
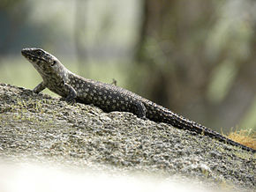
M188 120L182 115L157 105L134 92L116 85L79 77L66 69L56 56L41 48L23 48L21 54L34 65L35 70L41 75L42 82L34 88L33 92L35 93L48 88L67 102L93 104L107 113L111 111L130 112L141 119L168 123L178 129L188 129L197 134L203 134L221 142L235 145L246 151L255 152L250 147L238 144L230 138L224 137L198 122Z

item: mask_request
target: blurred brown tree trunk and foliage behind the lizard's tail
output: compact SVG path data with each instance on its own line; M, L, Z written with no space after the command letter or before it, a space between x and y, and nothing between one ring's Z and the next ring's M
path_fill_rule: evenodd
M255 1L145 0L132 85L224 132L240 122L255 129L255 7Z

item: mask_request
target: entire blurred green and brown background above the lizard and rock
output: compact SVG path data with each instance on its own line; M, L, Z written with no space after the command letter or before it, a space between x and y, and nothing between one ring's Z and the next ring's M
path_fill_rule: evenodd
M41 77L20 50L43 48L217 131L255 130L255 10L255 0L1 0L0 82L33 89Z

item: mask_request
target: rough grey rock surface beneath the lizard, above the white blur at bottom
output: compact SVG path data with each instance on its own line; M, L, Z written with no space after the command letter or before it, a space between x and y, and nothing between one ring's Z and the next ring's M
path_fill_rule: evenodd
M0 84L0 158L178 174L208 185L256 191L252 152L131 113L106 114L5 84Z

